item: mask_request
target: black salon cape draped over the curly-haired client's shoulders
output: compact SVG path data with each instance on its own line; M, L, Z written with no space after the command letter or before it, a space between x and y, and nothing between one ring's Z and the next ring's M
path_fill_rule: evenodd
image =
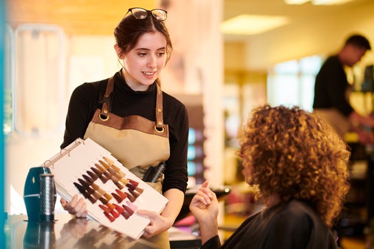
M325 249L338 248L331 230L307 204L282 202L248 217L223 246L219 237L201 249Z

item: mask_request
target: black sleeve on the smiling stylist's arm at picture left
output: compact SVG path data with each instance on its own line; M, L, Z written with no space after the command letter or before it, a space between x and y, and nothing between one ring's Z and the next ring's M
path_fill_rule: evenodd
M78 138L83 139L89 121L98 106L96 86L85 83L74 89L70 97L65 121L65 133L61 149Z

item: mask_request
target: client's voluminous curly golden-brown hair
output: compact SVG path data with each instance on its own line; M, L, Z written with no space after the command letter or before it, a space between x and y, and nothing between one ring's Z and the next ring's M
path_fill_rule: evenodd
M240 141L246 180L262 198L303 200L332 226L349 189L351 154L331 126L297 106L265 105L253 110Z

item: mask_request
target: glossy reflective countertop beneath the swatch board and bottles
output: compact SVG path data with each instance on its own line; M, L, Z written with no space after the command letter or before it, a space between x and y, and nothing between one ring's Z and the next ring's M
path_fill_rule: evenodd
M94 220L75 219L71 215L55 215L55 222L29 223L27 215L8 215L5 221L6 248L31 249L153 249L153 244L144 239L131 239L102 226ZM175 248L199 248L199 237L173 229L173 237L180 237ZM182 246L181 246L182 245ZM173 248L173 244L172 244ZM158 248L157 248L158 249Z

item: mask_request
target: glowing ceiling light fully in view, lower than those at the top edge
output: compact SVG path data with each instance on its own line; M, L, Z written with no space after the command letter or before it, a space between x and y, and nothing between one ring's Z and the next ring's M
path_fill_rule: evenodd
M287 23L289 23L289 19L286 16L241 14L232 19L223 21L220 25L220 29L223 34L251 35L261 34L270 29L286 25Z

